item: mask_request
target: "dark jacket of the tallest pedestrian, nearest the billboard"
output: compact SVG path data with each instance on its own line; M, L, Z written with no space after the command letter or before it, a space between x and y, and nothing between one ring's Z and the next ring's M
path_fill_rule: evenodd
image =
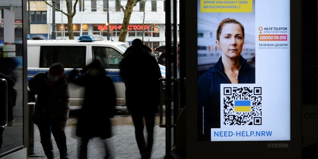
M157 111L161 72L156 58L141 45L130 46L125 53L119 68L125 81L128 111Z

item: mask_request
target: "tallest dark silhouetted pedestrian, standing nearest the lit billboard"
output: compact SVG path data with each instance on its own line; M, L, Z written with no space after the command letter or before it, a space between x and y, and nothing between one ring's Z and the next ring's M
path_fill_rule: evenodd
M140 39L135 40L140 41ZM130 46L126 56L119 63L121 77L126 86L126 105L134 123L136 141L142 159L151 157L161 78L158 62L148 50L142 44ZM148 135L147 144L144 135L144 118Z

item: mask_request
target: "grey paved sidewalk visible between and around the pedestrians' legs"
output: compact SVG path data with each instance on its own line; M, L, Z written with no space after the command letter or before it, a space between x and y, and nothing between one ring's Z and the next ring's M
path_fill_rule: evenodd
M157 117L156 117L157 118ZM159 118L159 117L158 117ZM158 119L157 119L158 120ZM109 140L112 146L115 159L141 159L139 150L135 139L135 129L132 125L130 116L115 116L112 118L113 123L113 137ZM70 119L65 130L68 144L69 159L77 158L78 138L75 135L76 119ZM39 130L34 127L34 154L29 155L28 159L46 159L43 148L40 143ZM53 138L53 136L52 136ZM165 129L160 128L156 121L154 146L152 159L164 159L165 156ZM54 139L54 138L53 138ZM59 151L54 143L54 152L56 159L59 159ZM103 159L105 151L103 144L99 138L93 138L88 143L88 159Z

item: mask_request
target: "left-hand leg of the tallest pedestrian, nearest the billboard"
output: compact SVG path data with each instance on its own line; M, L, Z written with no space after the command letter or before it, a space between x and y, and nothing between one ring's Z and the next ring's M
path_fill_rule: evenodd
M143 156L146 149L146 141L144 136L144 119L141 112L132 112L131 117L133 119L135 127L135 137L140 155Z

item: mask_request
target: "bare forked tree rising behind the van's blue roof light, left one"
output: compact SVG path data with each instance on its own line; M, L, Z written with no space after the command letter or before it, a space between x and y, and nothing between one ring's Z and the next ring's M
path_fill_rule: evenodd
M52 6L52 3L54 0L52 0L52 3L49 3L47 0L43 0L48 5ZM75 0L75 3L73 5L73 12L72 12L72 0L66 0L66 8L68 12L64 12L62 9L56 8L55 10L61 11L63 14L65 14L68 17L68 27L69 27L69 39L74 40L74 33L73 33L73 17L76 14L76 4L79 0ZM54 9L54 8L53 8Z

